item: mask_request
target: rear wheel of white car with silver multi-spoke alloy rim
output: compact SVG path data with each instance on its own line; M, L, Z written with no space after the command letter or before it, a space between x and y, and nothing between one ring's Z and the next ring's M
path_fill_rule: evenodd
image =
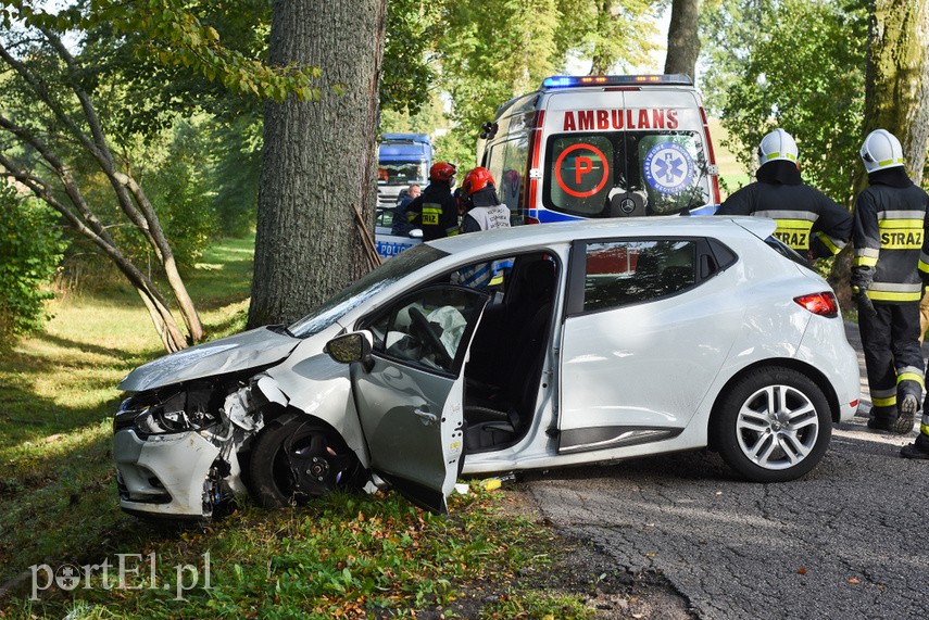
M723 459L754 482L805 476L829 446L829 403L808 377L783 367L757 368L723 395L710 428Z

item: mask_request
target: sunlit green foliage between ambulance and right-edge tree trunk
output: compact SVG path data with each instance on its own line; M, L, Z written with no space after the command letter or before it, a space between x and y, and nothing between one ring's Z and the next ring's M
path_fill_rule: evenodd
M728 144L750 167L782 127L807 182L851 204L864 111L867 9L862 0L724 0L704 14L714 61L703 89Z

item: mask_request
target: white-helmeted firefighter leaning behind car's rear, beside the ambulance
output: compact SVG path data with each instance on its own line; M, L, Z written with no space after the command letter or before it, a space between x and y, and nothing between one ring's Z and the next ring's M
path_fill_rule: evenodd
M832 256L849 242L852 216L800 178L796 142L775 129L758 145L757 182L735 192L717 215L757 215L777 222L775 237L809 262Z

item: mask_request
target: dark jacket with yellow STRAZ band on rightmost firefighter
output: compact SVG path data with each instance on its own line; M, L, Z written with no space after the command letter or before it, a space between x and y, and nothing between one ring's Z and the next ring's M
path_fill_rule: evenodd
M929 280L929 195L902 167L869 179L855 204L852 284L875 302L918 302Z

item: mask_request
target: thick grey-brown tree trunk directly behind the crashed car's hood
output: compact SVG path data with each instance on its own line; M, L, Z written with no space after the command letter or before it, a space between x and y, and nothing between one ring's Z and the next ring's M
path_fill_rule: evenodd
M274 4L272 64L318 66L323 96L265 105L250 327L294 320L369 268L385 17L386 0Z

